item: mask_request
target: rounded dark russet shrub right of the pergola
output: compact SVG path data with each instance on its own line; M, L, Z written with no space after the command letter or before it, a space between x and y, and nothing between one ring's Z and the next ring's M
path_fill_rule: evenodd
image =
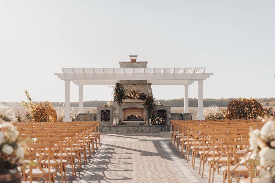
M256 100L250 98L241 98L228 103L225 111L225 118L232 119L256 119L263 116L263 107Z

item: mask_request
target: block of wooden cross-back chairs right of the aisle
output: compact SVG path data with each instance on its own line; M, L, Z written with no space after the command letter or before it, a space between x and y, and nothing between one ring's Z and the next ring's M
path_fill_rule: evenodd
M227 180L240 182L240 177L247 178L254 166L246 160L251 129L261 129L264 122L260 120L172 120L170 146L176 152L185 149L185 160L192 154L191 166L195 169L196 157L200 158L198 173L203 177L205 164L209 165L208 183L214 182L215 171L223 172L223 182ZM176 144L176 146L175 146ZM221 166L221 168L220 168ZM252 168L251 168L252 167ZM201 172L202 171L202 172ZM251 179L252 180L252 179ZM243 180L242 180L243 181ZM246 181L250 181L247 179Z

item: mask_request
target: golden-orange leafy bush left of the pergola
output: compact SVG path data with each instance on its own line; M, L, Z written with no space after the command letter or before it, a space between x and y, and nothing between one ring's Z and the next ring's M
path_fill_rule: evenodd
M33 122L56 122L57 114L50 102L34 103L30 109Z

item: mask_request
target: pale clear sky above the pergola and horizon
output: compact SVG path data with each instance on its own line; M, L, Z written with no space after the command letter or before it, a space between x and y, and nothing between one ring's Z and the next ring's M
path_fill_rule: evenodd
M275 1L0 0L0 101L64 101L62 67L206 67L204 98L275 97ZM184 86L152 86L158 99ZM189 98L197 98L197 81ZM71 82L71 101L78 86ZM111 100L84 86L83 100Z

